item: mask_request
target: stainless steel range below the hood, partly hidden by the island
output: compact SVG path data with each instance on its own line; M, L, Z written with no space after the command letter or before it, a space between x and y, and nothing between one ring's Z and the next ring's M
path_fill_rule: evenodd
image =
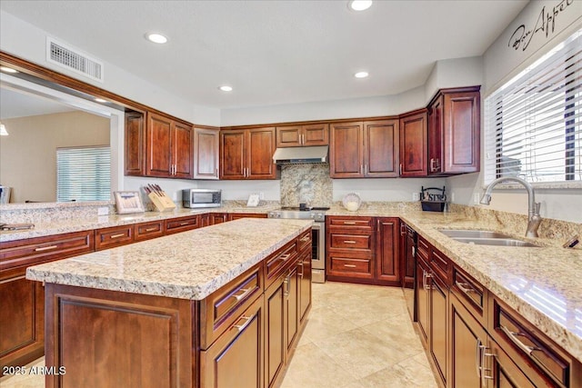
M311 219L311 281L326 283L326 210L328 207L312 207L300 210L298 207L282 207L268 213L269 218Z

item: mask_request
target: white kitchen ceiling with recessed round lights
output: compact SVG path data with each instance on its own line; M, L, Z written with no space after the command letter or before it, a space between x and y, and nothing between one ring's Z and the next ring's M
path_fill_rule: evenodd
M527 0L376 0L361 13L346 5L0 2L5 12L193 104L234 108L396 95L424 85L437 60L483 55ZM149 43L146 32L169 42ZM370 76L354 78L360 70Z

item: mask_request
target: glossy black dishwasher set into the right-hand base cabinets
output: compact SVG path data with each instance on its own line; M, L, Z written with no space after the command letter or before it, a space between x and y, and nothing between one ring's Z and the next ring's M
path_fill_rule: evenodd
M416 322L416 245L417 235L416 231L405 223L400 224L400 234L403 241L403 252L401 268L404 268L404 279L402 282L402 291L406 300L406 309L410 314L410 319Z

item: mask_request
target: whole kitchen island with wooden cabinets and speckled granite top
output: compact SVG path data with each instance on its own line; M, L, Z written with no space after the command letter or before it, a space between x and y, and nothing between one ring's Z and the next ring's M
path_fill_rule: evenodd
M310 307L311 224L241 219L28 268L46 387L276 383Z

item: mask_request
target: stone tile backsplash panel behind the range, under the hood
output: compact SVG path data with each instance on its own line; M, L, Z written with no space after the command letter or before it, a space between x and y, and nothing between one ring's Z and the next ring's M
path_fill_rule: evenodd
M330 206L333 184L329 164L286 164L281 168L281 205Z

